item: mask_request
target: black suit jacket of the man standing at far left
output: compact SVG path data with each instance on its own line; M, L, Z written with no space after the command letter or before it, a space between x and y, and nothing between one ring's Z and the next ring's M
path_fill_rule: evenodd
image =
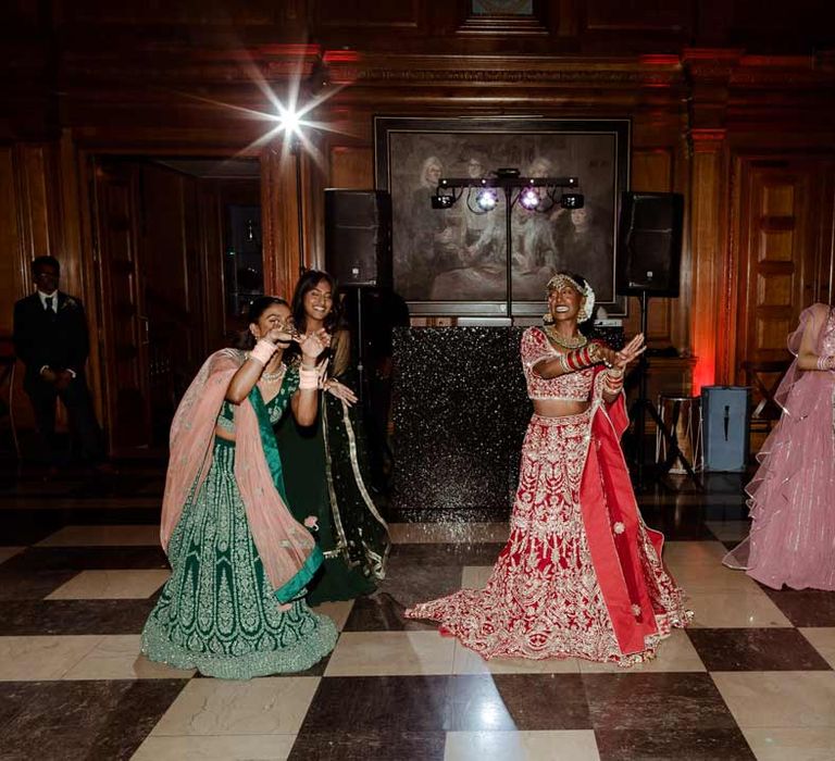
M14 304L14 350L26 365L24 388L30 388L47 364L84 375L90 351L82 302L58 292L58 312L43 309L37 292Z

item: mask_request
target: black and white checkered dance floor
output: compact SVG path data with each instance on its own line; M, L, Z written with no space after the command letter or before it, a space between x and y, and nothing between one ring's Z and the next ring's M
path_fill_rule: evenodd
M167 577L161 475L29 478L0 491L0 759L835 759L835 594L722 566L740 481L641 498L694 625L631 670L484 662L404 606L479 585L503 524L397 524L373 597L301 674L199 678L138 656Z

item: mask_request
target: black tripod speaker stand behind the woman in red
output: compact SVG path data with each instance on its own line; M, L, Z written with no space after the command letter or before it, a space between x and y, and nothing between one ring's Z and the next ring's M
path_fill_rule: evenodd
M640 291L640 332L644 336L647 335L647 317L649 312L649 294L646 290ZM702 490L701 479L696 475L693 470L693 464L687 460L682 450L678 447L678 439L675 435L675 421L673 421L672 429L669 428L664 421L661 420L661 415L658 413L658 409L652 401L647 397L647 372L649 370L649 360L647 359L647 352L645 351L638 359L638 397L634 401L630 409L630 419L633 422L635 432L635 489L637 491L647 491L649 487L655 483L662 488L670 489L670 486L663 481L664 476L670 472L673 463L678 460L684 466L684 472L687 477L693 482L698 491ZM646 441L644 440L646 434L646 416L649 415L658 426L658 431L664 437L666 442L666 459L659 466L647 467L646 464Z

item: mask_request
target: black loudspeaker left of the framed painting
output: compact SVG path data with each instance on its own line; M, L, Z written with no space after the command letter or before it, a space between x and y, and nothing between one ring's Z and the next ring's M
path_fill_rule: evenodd
M391 285L391 197L325 190L325 267L340 285Z

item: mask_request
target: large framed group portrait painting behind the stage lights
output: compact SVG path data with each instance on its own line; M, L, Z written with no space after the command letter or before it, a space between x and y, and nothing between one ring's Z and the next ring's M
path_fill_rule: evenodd
M534 315L548 279L568 270L588 279L609 316L625 314L614 273L630 142L630 120L375 116L375 184L391 195L395 290L415 315ZM508 170L576 177L572 192L584 205L566 209L551 196L528 210L518 189L510 210L502 191L487 212L477 189L463 188L449 208L433 208L441 178Z

